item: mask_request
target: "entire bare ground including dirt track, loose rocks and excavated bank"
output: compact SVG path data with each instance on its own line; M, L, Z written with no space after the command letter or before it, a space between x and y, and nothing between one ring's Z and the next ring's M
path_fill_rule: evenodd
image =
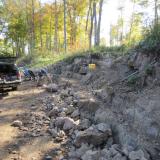
M88 69L88 64L96 69ZM159 160L159 60L89 55L0 103L0 159Z

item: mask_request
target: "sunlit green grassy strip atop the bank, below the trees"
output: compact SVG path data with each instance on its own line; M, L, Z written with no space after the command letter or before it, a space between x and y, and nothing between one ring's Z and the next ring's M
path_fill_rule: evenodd
M114 57L118 57L120 55L124 55L125 47L124 46L116 46L116 47L95 47L90 50L82 50L79 52L72 53L51 53L51 52L34 52L34 54L29 54L23 56L17 60L17 64L19 66L27 66L30 68L41 68L46 67L48 65L55 64L59 61L65 61L67 63L72 63L75 58L84 57L87 55L97 55L104 56L110 55Z

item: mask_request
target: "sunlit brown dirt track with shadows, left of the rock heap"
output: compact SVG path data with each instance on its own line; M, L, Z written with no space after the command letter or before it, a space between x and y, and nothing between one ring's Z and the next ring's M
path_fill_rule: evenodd
M55 148L49 136L24 137L11 124L18 114L32 111L32 106L41 106L39 98L47 93L30 82L24 83L16 92L0 100L0 160L40 160Z

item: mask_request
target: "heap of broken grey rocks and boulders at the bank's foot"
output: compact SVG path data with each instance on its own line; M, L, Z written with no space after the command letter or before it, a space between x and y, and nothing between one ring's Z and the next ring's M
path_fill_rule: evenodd
M116 144L112 126L109 123L94 121L100 103L88 95L77 96L73 88L59 90L47 104L53 104L47 111L50 117L49 133L55 142L67 145L68 160L150 160L144 150L132 146ZM84 114L86 112L86 114ZM89 118L88 118L89 117Z

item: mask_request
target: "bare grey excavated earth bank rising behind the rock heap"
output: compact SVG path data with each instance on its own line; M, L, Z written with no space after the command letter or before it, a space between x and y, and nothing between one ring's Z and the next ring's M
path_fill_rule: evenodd
M96 70L88 71L89 63L95 63ZM83 86L94 97L94 103L89 95L83 100L79 98L81 119L90 119L94 125L110 125L113 144L120 144L122 150L142 148L150 158L160 159L158 58L141 53L116 59L89 55L75 58L69 64L62 62L49 70L61 78L76 79L77 90ZM55 80L54 77L57 76L53 76Z

